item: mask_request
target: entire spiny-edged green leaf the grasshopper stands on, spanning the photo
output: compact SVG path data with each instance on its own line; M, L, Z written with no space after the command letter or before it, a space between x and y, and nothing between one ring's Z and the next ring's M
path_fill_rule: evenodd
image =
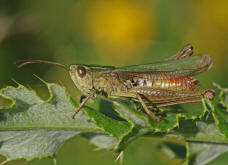
M225 90L221 90L214 104L203 100L203 104L161 108L154 112L161 115L161 122L135 110L131 101L100 97L87 103L89 106L84 106L72 120L77 102L63 87L45 84L50 95L47 100L22 85L1 89L0 96L10 102L0 106L0 154L7 160L55 157L59 146L76 135L98 148L117 152L141 136L168 142L184 140L186 163L194 165L209 162L227 151ZM169 149L162 148L169 155L183 157L177 145L166 146Z

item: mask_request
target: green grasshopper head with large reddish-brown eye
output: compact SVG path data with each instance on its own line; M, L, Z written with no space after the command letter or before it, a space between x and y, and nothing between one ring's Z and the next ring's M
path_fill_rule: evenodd
M84 65L71 65L70 76L76 87L85 95L90 93L93 88L92 72Z

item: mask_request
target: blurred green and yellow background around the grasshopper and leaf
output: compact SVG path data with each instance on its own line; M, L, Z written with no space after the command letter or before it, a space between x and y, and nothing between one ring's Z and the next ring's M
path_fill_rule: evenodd
M187 43L195 53L212 56L214 67L197 78L203 88L212 82L228 86L228 1L181 0L0 0L0 88L25 84L45 99L46 87L33 74L63 84L76 98L79 91L68 73L54 66L34 64L18 69L14 62L42 59L100 65L131 65L160 61ZM158 139L140 138L131 144L124 164L181 164L162 154ZM94 151L76 137L64 144L57 163L114 164L111 151ZM226 164L224 154L212 164ZM0 160L3 160L0 157ZM13 161L8 164L23 164ZM51 159L33 160L46 165ZM117 163L118 164L118 163Z

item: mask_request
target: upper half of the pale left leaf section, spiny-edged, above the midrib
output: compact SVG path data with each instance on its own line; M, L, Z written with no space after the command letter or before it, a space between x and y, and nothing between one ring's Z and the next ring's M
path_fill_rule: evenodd
M47 86L50 98L46 101L22 85L2 89L1 95L10 99L12 104L0 109L0 130L68 128L101 131L83 113L78 114L77 120L72 120L75 110L69 104L64 89L54 84Z

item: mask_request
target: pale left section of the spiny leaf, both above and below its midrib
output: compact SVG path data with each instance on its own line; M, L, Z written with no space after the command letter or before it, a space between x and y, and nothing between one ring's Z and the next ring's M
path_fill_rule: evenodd
M50 94L46 101L22 85L1 90L1 96L11 102L0 107L0 153L7 160L54 157L62 143L82 133L101 148L113 148L113 144L99 142L115 140L105 137L105 132L83 112L72 120L75 109L64 88L46 85Z

